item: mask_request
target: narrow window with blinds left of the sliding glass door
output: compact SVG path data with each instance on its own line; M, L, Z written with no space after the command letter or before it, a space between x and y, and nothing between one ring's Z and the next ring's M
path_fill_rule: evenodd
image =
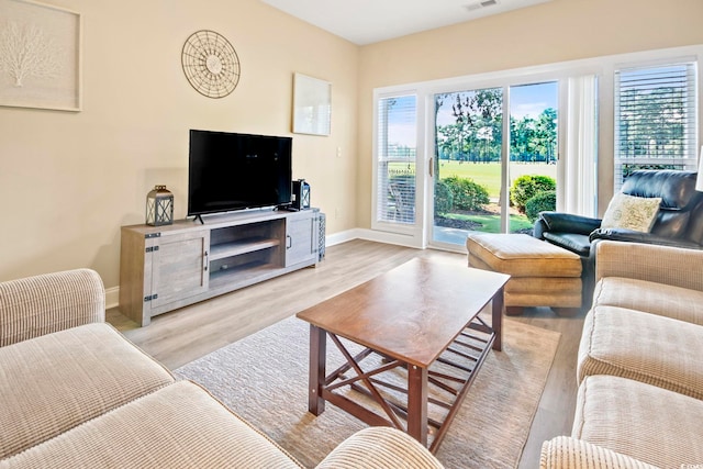
M414 225L417 98L381 98L377 113L376 221Z

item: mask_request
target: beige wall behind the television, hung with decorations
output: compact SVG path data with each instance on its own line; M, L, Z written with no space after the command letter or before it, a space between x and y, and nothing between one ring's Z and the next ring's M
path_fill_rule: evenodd
M333 122L330 137L293 135L293 177L333 214L328 233L356 226L357 46L258 0L51 3L82 14L83 110L0 108L0 280L90 267L116 287L120 226L144 223L154 185L186 216L188 130L293 135L294 71L332 81ZM197 93L181 70L202 29L239 56L227 98Z

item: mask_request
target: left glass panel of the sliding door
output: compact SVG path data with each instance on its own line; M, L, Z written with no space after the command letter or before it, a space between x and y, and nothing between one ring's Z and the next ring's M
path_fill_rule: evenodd
M501 232L503 88L435 94L433 242Z

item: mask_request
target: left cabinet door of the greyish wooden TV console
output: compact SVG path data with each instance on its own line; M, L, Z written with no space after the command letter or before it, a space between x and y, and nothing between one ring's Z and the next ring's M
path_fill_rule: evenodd
M208 291L209 246L207 230L158 238L152 252L152 308Z

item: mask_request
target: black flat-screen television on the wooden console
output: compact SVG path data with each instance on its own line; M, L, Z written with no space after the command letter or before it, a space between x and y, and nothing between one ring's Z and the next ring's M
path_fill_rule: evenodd
M188 215L291 202L292 138L190 131Z

